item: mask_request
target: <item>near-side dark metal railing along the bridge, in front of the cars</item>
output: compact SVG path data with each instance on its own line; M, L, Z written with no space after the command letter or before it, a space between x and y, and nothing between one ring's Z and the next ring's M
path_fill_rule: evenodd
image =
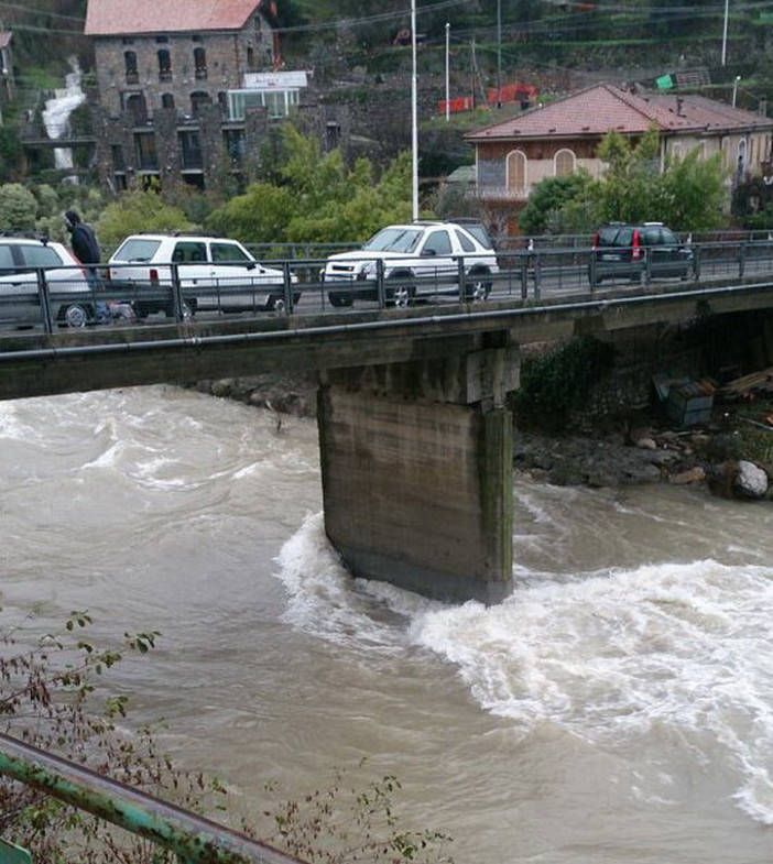
M61 327L96 324L141 326L159 320L187 321L213 315L345 315L353 307L385 308L410 303L523 302L547 296L592 297L600 289L647 286L664 278L701 281L773 278L773 240L693 242L689 264L664 264L657 252L635 250L634 262L610 264L605 250L563 245L500 250L491 255L426 258L411 270L372 264L346 276L324 277L327 259L295 258L270 262L270 271L246 278L186 276L184 264L154 266L155 278L122 278L120 269L100 267L91 277L81 267L0 274L0 327L34 328L51 333ZM634 250L632 250L634 251ZM361 261L367 260L362 253ZM356 262L352 258L350 261ZM372 263L372 262L371 262ZM72 272L70 272L72 271ZM157 273L163 271L163 278ZM259 272L259 271L255 271ZM360 277L364 272L367 277ZM110 278L108 278L108 275Z

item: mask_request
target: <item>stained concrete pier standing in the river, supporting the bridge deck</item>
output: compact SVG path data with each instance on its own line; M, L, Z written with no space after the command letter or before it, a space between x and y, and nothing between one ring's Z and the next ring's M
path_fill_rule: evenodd
M515 347L328 371L325 528L355 576L442 600L512 588Z

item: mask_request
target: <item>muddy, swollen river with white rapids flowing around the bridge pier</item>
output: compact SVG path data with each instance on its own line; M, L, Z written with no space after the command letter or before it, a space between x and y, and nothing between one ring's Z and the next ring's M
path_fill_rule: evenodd
M457 864L773 858L770 503L518 478L516 590L444 605L340 567L313 420L157 386L0 438L6 614L161 631L115 687L248 801L345 767Z

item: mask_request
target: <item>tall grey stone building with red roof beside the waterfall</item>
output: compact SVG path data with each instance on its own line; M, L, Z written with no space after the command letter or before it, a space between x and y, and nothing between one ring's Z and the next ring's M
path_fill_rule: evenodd
M274 0L89 0L96 162L115 190L242 178L305 73L279 69Z

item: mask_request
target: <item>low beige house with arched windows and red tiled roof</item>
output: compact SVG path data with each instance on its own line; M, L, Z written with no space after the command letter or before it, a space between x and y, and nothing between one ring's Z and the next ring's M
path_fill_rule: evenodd
M695 147L720 153L733 179L771 171L773 120L692 94L630 92L598 84L466 135L476 151L477 194L492 209L514 216L546 177L586 168L600 176L597 152L611 130L634 142L651 128L660 162ZM511 220L512 227L512 220Z

